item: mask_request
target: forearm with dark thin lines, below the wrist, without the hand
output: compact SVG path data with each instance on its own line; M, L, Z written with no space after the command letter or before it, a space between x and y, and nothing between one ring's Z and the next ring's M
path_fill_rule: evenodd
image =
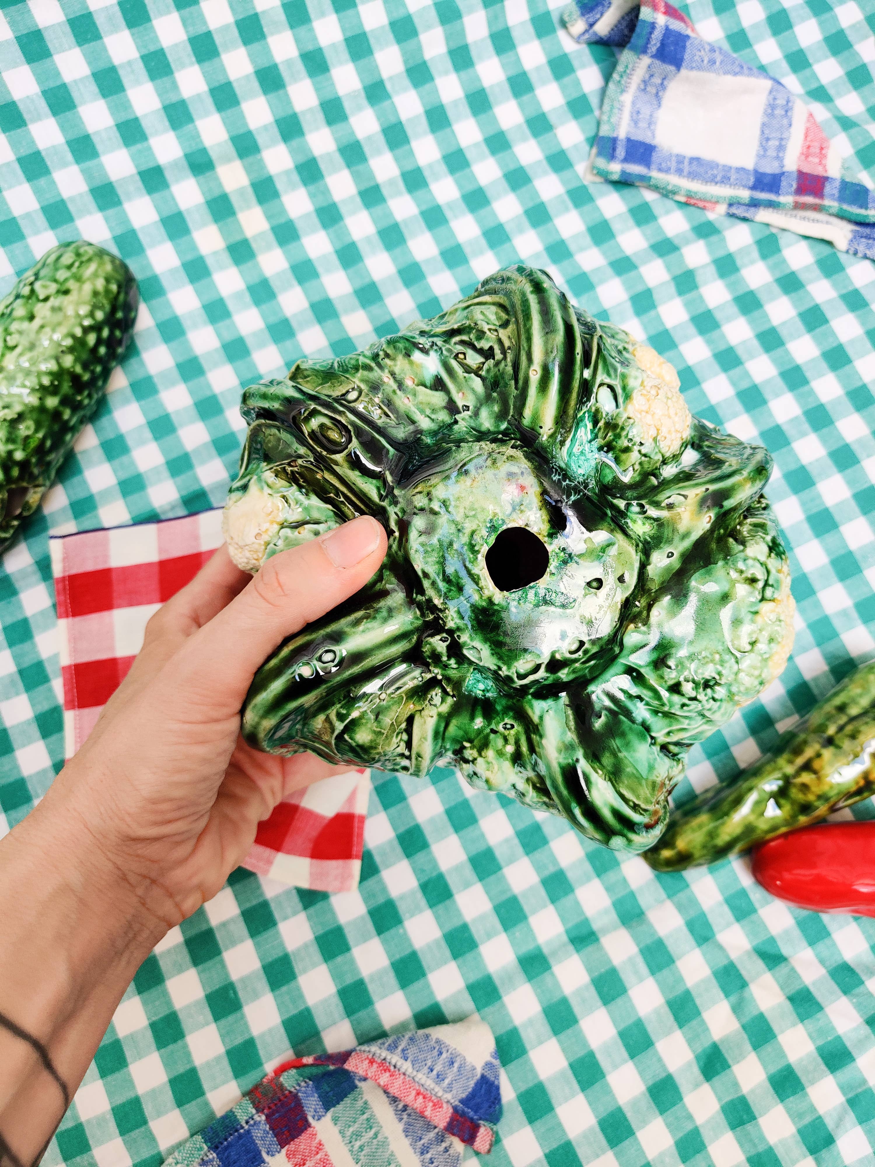
M44 1149L163 935L51 795L0 841L0 1165Z

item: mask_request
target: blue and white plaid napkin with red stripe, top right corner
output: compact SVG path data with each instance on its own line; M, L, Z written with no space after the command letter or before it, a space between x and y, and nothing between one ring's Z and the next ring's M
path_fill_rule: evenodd
M562 19L576 41L625 47L588 179L652 187L875 259L872 181L780 82L702 40L665 0L576 0Z

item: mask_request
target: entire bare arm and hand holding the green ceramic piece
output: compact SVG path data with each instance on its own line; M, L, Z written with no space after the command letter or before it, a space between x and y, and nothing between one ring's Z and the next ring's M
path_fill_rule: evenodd
M335 771L252 749L240 706L262 661L385 551L368 517L256 576L219 548L152 617L85 745L0 841L0 1167L38 1160L155 944L216 895L284 797Z

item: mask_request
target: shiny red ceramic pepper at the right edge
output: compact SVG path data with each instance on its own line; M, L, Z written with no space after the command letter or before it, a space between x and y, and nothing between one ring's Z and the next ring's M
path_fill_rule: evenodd
M756 847L754 879L810 911L875 916L875 822L806 826Z

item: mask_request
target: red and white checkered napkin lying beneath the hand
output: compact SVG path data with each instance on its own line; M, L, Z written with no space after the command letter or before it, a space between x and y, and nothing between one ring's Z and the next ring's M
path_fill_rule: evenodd
M127 675L146 621L220 543L220 510L49 540L68 757ZM350 770L290 795L261 823L243 866L315 892L352 890L370 789L370 771Z

